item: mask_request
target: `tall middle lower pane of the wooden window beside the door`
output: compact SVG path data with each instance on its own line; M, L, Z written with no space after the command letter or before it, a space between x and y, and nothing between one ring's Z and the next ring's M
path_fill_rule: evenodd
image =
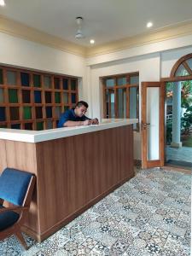
M118 117L119 119L126 118L126 89L118 89Z

